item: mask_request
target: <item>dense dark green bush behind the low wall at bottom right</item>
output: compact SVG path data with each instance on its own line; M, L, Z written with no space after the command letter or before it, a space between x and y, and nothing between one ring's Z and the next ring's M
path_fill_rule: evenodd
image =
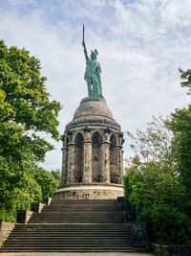
M179 209L157 204L142 208L138 221L147 221L150 241L157 244L191 244L191 220Z

